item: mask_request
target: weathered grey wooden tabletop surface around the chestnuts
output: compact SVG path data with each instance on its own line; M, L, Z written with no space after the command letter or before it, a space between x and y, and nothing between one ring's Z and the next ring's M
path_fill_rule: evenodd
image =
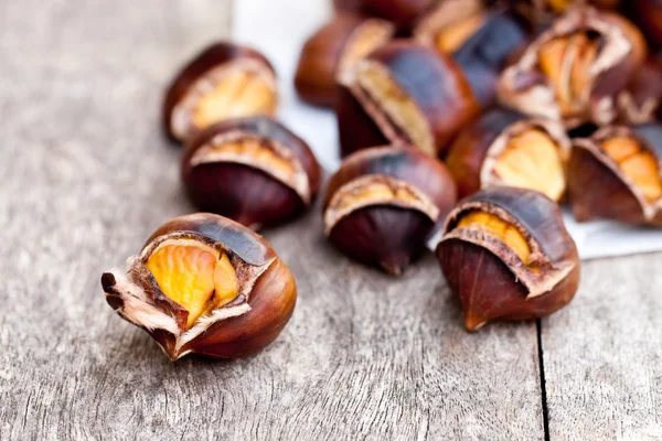
M173 364L114 314L100 272L192 211L163 86L229 15L0 2L1 440L662 438L662 254L588 262L538 326L468 334L431 256L402 279L362 268L316 211L265 234L300 297L260 355Z

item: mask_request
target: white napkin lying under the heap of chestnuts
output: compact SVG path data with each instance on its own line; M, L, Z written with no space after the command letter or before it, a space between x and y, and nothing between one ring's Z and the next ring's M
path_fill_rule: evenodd
M303 42L331 14L331 0L235 0L233 12L234 40L263 52L278 73L280 119L330 172L340 164L335 117L299 100L292 78ZM662 230L613 222L578 224L567 213L565 220L583 259L662 251Z

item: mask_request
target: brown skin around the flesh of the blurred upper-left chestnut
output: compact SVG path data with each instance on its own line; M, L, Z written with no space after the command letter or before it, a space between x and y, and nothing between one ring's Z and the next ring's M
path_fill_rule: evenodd
M189 97L196 85L201 84L200 82L204 82L206 79L207 83L214 84L209 76L212 75L214 71L223 68L226 68L227 71L232 68L238 71L244 69L259 76L260 79L266 82L265 87L269 89L268 93L273 95L269 97L269 99L273 100L271 105L264 105L264 109L255 110L254 114L246 114L246 110L236 110L231 112L233 117L246 117L250 115L275 116L278 90L276 84L276 72L274 71L274 67L269 61L263 54L250 47L241 46L229 42L218 42L211 44L204 51L194 56L186 65L184 65L174 76L166 92L166 98L162 106L162 125L166 135L172 141L183 142L190 138L193 132L206 128L195 127L195 125L191 121L190 116L188 117L189 120L185 121L185 128L175 127L177 125L173 122L173 114L175 114L178 106L183 106L186 97ZM231 89L227 90L227 93L235 94L237 90ZM235 96L232 100L228 99L228 101L236 103L237 97ZM231 106L234 106L234 104ZM218 121L215 120L213 122Z

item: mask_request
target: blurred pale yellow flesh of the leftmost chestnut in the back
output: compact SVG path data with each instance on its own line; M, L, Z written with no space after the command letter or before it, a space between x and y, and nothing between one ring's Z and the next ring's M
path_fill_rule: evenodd
M205 129L229 118L274 115L277 98L273 86L256 72L229 72L200 97L192 112L193 126Z

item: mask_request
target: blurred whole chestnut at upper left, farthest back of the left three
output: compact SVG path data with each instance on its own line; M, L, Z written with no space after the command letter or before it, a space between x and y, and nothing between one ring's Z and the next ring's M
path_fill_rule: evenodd
M163 128L175 141L225 119L275 116L276 73L259 52L215 43L174 77L163 101Z

